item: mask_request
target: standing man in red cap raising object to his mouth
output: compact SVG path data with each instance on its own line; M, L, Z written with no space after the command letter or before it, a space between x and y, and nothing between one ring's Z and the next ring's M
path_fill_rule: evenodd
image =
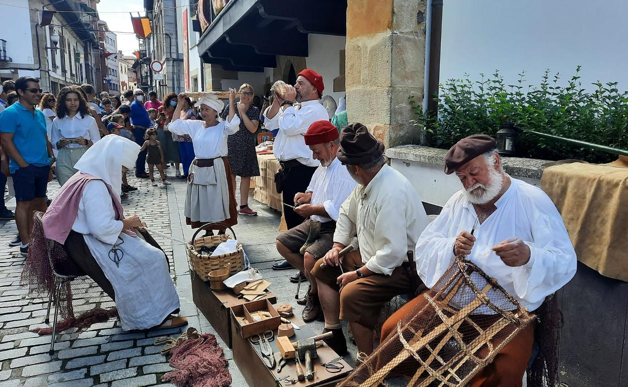
M306 68L296 77L294 87L286 86L284 95L274 93L279 101L279 132L274 139L273 153L281 164L281 169L275 176L275 184L278 193L283 196L283 203L288 206L294 206L296 193L305 191L319 165L312 157L310 148L305 145L303 135L313 122L329 120L327 110L318 102L324 89L323 77ZM303 223L303 216L288 206L283 207L286 226L293 228ZM275 270L288 268L291 265L286 261L273 265ZM296 274L296 280L299 275L301 274Z

